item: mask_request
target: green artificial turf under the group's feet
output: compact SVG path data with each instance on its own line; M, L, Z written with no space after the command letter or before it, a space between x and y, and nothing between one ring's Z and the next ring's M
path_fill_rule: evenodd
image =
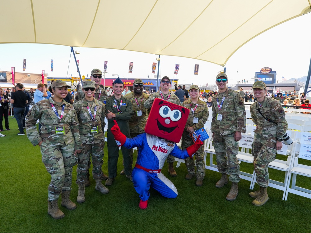
M2 132L7 136L0 138L0 232L311 232L310 199L289 194L284 201L282 191L269 187L268 202L256 207L248 195L250 182L241 180L237 199L227 201L230 183L223 188L215 187L220 173L206 170L203 186L197 187L194 178L185 179L187 170L183 163L175 168L177 177L168 175L167 163L162 170L177 187L177 198L163 198L151 189L145 210L138 207L140 199L133 184L121 175L108 186L110 192L105 195L95 190L91 177L91 186L86 187L86 201L77 204L75 166L71 199L77 208L67 210L59 200L65 217L55 220L47 213L50 175L41 162L39 147L32 146L26 135L17 135L16 120L11 116L9 123L11 131ZM107 158L105 147L105 174L108 174ZM286 159L281 155L277 158ZM252 172L252 164L240 166L241 170ZM122 156L118 161L118 174L121 169ZM284 173L269 171L270 178L282 180ZM311 188L310 178L298 177L297 184Z

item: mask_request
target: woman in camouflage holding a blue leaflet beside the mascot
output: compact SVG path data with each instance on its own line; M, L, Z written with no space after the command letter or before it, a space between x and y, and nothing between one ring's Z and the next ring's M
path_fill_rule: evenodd
M188 120L183 131L182 139L181 139L181 148L185 150L189 146L194 144L190 133L203 128L204 124L208 118L208 107L207 104L201 100L199 100L199 87L197 85L190 86L189 94L190 97L188 100L182 103L182 106L188 108L190 110L190 114L188 116ZM205 177L205 161L203 155L204 147L201 146L197 152L194 154L196 160L196 186L202 186L203 179ZM185 164L188 170L188 174L186 175L186 179L190 180L194 176L194 159L193 157L186 158Z

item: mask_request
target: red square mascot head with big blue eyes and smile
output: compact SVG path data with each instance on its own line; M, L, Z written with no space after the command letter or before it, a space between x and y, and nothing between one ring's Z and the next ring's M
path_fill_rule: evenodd
M190 110L156 98L145 126L145 132L169 141L179 142Z

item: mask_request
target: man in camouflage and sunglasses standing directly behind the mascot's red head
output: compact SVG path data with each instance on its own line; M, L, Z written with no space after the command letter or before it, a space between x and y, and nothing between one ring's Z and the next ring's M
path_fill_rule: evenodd
M181 105L179 98L169 91L169 88L171 87L171 80L169 77L164 76L161 79L160 83L161 90L159 92L152 93L149 98L145 101L144 106L146 109L151 109L152 103L155 98L160 98L162 100L169 101L171 103ZM177 173L174 170L174 161L175 157L172 155L169 155L167 157L167 162L169 163L169 175L171 176L177 176Z

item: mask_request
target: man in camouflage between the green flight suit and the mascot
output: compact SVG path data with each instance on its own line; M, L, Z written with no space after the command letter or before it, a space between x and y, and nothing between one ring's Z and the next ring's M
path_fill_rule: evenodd
M144 106L144 102L148 99L148 95L143 92L144 83L142 79L135 79L133 83L133 91L126 94L124 97L132 102L134 114L128 121L130 124L131 138L137 137L138 134L145 132L145 125L148 118L148 110ZM129 150L131 156L131 165L133 164L133 150ZM137 148L138 153L138 148ZM120 173L124 175L124 168Z

